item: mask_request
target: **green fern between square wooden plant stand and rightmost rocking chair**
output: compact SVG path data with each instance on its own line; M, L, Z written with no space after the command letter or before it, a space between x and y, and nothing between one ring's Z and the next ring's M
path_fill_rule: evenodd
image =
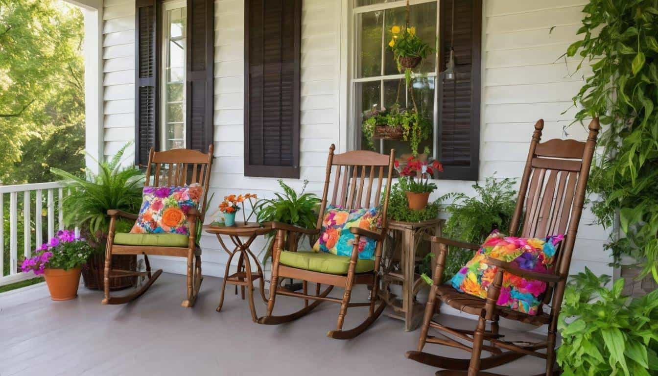
M463 193L449 193L439 200L450 200L445 207L450 215L443 227L443 236L472 244L482 244L495 228L506 231L512 221L517 205L516 181L510 178L496 180L493 176L486 179L484 186L472 185L476 196L469 197ZM449 247L445 259L443 279L447 281L473 257L471 250Z

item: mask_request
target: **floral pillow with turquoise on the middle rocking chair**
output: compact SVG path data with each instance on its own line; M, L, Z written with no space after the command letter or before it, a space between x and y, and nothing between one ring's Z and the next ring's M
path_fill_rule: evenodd
M329 252L334 255L351 256L354 234L350 227L361 227L376 231L382 226L382 213L376 207L370 209L344 209L328 205L322 219L320 238L313 246L315 252ZM361 236L359 238L359 258L374 259L375 241Z

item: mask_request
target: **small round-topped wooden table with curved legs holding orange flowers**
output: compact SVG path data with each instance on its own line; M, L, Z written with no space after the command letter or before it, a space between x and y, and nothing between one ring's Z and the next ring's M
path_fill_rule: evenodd
M257 238L257 236L265 235L268 232L272 231L269 227L261 227L258 223L236 223L234 226L230 227L212 227L206 226L206 232L215 234L219 244L222 245L222 248L228 254L228 261L226 261L226 271L224 272L224 281L222 281L222 295L219 298L219 306L217 306L217 311L222 310L222 305L224 304L224 290L226 290L226 284L233 284L236 286L236 295L238 294L238 286L240 286L241 296L244 300L245 298L245 287L247 288L247 294L249 295L249 309L251 309L251 319L256 322L257 314L256 307L253 302L253 281L259 280L261 288L261 297L263 302L267 303L267 298L265 298L265 276L263 275L263 269L261 268L261 263L259 263L257 257L251 252L249 246ZM222 235L228 236L231 242L234 244L234 249L230 251ZM247 238L247 240L242 241L240 238ZM228 275L228 271L231 267L231 260L236 254L240 254L238 258L238 270L232 275ZM257 273L251 271L251 261L249 257L253 259L253 262L256 265Z

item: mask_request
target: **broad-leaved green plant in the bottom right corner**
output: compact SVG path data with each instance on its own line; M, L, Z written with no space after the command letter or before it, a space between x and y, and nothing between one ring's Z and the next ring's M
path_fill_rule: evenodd
M558 322L562 374L658 375L658 290L629 300L624 279L609 281L588 268L571 276Z

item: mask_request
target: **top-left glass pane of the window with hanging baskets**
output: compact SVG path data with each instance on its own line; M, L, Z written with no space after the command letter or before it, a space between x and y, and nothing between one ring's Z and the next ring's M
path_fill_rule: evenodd
M384 11L357 15L357 77L382 74L382 26ZM358 25L361 25L360 27Z

